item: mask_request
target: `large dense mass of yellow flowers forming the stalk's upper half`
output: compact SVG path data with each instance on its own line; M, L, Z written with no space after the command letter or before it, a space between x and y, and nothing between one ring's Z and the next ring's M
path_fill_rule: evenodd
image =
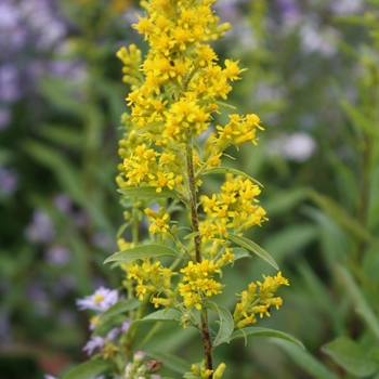
M133 27L148 41L148 54L142 63L141 51L133 44L117 53L125 65L123 80L132 89L127 97L131 115L122 118L130 131L120 141L120 187L145 185L158 193L165 187L188 192L188 180L183 178L185 144L209 128L221 104L218 99L227 99L230 82L240 79L245 70L232 60L225 60L222 68L214 51L204 43L218 39L230 27L217 25L219 17L210 9L214 2L142 2L147 15L139 16ZM210 147L206 162L205 156L194 153L198 173L220 166L230 145L257 143L256 130L262 129L257 115L231 115L230 119L224 127L217 126L217 133L206 141ZM196 185L200 184L198 180Z

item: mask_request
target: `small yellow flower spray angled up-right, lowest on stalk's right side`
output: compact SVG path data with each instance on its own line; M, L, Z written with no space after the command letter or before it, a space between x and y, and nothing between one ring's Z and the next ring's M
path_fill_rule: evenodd
M248 290L238 295L240 302L236 304L233 314L236 328L257 323L256 314L258 313L260 317L263 317L264 314L270 317L270 308L275 306L278 310L282 305L282 298L274 298L274 293L280 286L289 286L288 279L282 276L282 272L274 277L263 275L263 278L264 283L257 282L260 287L258 293L256 292L257 285L250 283Z

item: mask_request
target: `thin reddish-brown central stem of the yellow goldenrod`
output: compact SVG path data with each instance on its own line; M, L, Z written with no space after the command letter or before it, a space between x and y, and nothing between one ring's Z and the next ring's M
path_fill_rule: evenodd
M197 214L197 201L196 201L196 178L194 173L194 161L193 161L193 148L190 143L187 143L187 173L188 173L188 186L190 186L190 210L191 210L191 223L192 231L196 233L199 231L198 214ZM195 258L196 262L201 262L201 240L200 236L197 235L194 237L195 243ZM213 370L212 363L212 343L210 341L209 326L208 326L208 311L201 309L200 312L201 318L201 337L202 337L202 348L204 355L206 357L207 369ZM209 379L212 379L213 375L211 374Z

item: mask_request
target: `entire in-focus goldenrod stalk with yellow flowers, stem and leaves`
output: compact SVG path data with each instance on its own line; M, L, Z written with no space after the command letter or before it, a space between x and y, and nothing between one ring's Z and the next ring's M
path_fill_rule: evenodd
M233 108L225 103L231 82L245 71L238 61L219 65L208 44L230 28L219 25L210 8L215 2L142 1L145 13L132 26L148 42L147 55L142 62L142 52L133 44L117 53L125 65L123 81L131 86L127 97L131 114L122 116L123 161L117 183L123 204L131 208L125 215L133 241L120 238L121 251L107 260L121 263L128 292L170 310L157 312L156 317L171 317L184 329L193 326L200 331L205 360L194 364L185 378L201 379L222 377L225 364L213 367L214 348L245 336L240 329L256 323L257 314L270 316L270 308L278 309L283 302L274 293L288 286L280 272L249 284L233 314L213 302L222 292L222 269L237 259L254 252L278 269L263 249L243 236L267 221L257 199L260 183L223 166L226 148L246 142L256 145L256 132L263 128L254 114L231 114L226 125L215 123L222 109ZM212 173L225 174L225 182L220 193L207 196L202 181ZM179 206L184 207L186 220L178 218ZM135 225L146 217L149 239L147 231ZM160 257L173 260L164 265ZM218 330L209 324L209 312L219 317ZM131 329L134 338L136 328Z

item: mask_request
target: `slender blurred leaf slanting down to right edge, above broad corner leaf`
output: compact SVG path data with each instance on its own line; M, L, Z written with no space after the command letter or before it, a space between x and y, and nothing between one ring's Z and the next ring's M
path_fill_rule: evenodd
M349 271L343 266L338 266L337 271L342 278L343 285L347 288L350 298L353 300L356 306L356 313L362 317L362 319L366 323L366 325L379 340L378 318L362 295L360 287L356 285Z

